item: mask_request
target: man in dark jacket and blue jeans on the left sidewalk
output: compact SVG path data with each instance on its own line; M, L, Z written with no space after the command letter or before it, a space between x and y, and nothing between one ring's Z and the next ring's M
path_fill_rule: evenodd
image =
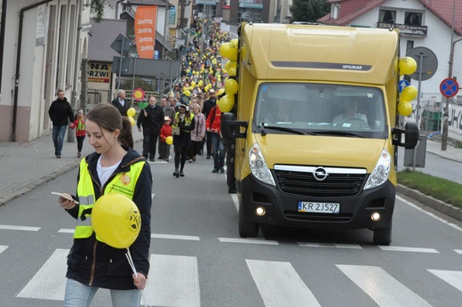
M74 112L70 103L64 97L64 91L58 91L57 95L58 99L52 102L50 109L48 109L48 115L52 119L53 124L54 155L56 158L61 158L64 134L66 133L66 127L74 122Z

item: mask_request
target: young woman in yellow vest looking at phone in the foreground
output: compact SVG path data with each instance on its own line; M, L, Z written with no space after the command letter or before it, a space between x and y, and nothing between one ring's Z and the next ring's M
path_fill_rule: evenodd
M60 206L76 218L74 245L68 254L65 306L90 306L96 291L110 289L113 306L139 306L146 286L151 242L152 175L146 159L133 150L131 123L109 103L100 103L85 117L87 138L95 152L82 159L74 201L60 198ZM139 236L130 246L137 274L131 271L124 249L108 246L92 229L92 207L103 194L131 198L141 216ZM68 194L65 194L71 197Z

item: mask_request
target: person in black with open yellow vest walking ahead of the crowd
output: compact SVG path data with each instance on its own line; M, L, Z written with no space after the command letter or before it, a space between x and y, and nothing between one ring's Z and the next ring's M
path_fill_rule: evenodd
M173 176L184 177L187 148L191 144L191 130L195 127L195 117L186 104L179 105L179 111L171 120L171 132L173 133L173 149L175 151L175 172ZM176 131L176 132L175 132Z

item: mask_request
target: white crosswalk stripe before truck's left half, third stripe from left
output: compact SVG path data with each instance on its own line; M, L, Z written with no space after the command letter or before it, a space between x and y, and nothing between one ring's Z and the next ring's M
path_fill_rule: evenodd
M321 306L291 263L245 260L267 307Z

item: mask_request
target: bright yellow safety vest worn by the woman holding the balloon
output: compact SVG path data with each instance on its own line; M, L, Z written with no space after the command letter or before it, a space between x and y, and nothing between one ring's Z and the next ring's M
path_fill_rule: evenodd
M123 194L127 198L133 199L135 192L136 182L138 181L139 174L143 170L145 161L139 161L130 166L130 171L127 173L119 173L106 184L103 194L116 192ZM92 176L88 172L88 163L85 159L80 162L80 176L77 183L78 201L80 203L76 231L74 238L89 238L92 236L92 208L95 204L95 193L92 182ZM96 237L98 238L98 236ZM98 238L102 241L100 238Z

